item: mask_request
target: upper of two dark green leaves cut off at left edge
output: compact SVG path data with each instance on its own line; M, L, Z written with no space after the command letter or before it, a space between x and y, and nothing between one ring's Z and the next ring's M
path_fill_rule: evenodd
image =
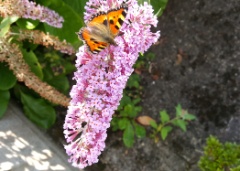
M16 84L16 77L6 63L0 62L0 90L8 90Z

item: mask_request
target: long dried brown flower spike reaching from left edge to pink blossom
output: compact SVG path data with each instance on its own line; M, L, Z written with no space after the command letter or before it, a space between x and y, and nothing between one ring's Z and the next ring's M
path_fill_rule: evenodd
M66 97L47 83L42 82L33 74L24 61L21 51L16 44L10 44L7 39L0 38L0 62L8 63L18 81L24 82L27 87L33 89L41 97L52 103L67 107L70 98Z

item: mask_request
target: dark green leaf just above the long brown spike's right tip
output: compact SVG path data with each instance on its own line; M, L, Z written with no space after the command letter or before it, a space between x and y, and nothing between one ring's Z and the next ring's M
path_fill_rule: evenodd
M67 93L69 90L69 81L66 76L59 75L53 77L51 80L47 81L51 86L55 87L57 90Z

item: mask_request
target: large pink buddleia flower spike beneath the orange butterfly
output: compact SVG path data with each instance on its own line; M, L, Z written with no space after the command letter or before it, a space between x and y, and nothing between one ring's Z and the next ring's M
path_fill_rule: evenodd
M90 0L85 20L99 9L106 11L122 3L123 0ZM110 46L97 55L82 46L76 54L76 85L70 93L72 100L64 134L69 162L78 168L98 162L98 156L105 148L107 128L133 72L133 64L139 52L145 52L160 36L159 32L150 31L151 25L156 26L158 22L151 5L139 6L136 0L126 3L128 14L121 28L123 35L115 38L118 46Z

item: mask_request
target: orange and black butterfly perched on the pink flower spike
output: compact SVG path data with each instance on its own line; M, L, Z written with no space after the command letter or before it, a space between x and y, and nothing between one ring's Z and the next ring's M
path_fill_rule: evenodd
M123 3L108 12L99 12L77 33L90 52L97 54L109 45L117 45L114 38L119 34L127 9L127 4Z

